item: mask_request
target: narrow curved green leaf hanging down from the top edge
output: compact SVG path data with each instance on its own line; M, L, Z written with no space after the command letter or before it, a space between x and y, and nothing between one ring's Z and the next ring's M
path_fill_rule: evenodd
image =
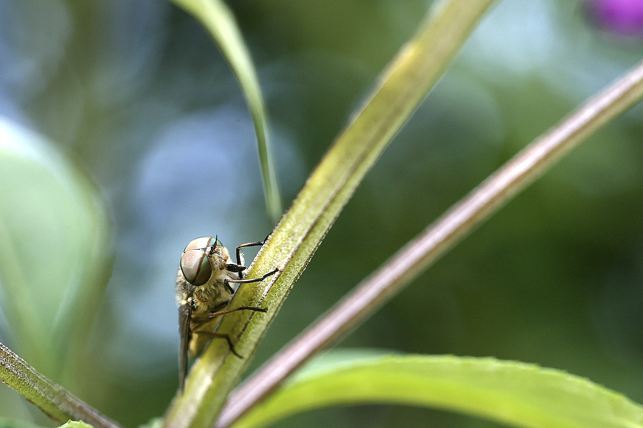
M230 68L239 80L241 91L254 121L264 182L266 208L271 219L281 216L281 197L276 182L268 136L268 116L250 53L230 9L219 0L171 0L201 22L219 46Z

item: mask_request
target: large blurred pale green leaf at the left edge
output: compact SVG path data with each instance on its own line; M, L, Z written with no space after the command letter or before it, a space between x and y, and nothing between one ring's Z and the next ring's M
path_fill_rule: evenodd
M50 376L89 333L111 269L94 185L41 136L0 118L0 304L22 355Z

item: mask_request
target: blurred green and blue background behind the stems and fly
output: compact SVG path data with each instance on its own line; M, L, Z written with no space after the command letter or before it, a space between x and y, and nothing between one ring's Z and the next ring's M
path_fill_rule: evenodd
M229 6L256 61L287 207L429 2ZM339 216L251 370L637 63L641 9L499 1ZM569 154L340 346L534 362L643 402L642 114L635 107ZM201 26L166 1L3 0L0 116L4 143L35 147L85 198L61 201L46 180L34 190L35 175L0 173L2 236L21 237L0 253L0 342L128 427L161 415L177 387L181 250L217 234L234 247L274 225L234 76ZM74 220L79 204L89 223ZM52 267L20 270L16 288L6 272L21 263ZM7 387L0 417L54 425ZM402 424L498 426L389 406L281 426Z

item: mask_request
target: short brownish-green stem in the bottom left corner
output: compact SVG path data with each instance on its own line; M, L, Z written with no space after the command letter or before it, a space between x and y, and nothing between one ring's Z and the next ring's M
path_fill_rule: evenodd
M36 372L34 367L1 343L0 379L58 422L73 419L91 424L94 428L121 428L59 384Z

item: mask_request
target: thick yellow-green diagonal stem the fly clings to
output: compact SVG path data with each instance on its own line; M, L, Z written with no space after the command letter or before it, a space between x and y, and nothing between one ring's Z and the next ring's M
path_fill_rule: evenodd
M221 321L219 332L229 335L245 358L231 355L223 341L212 342L192 367L184 394L176 397L169 409L165 427L211 427L226 395L335 218L492 2L439 3L395 56L362 111L324 156L261 248L248 275L258 277L275 267L280 272L259 287L241 287L231 302L231 307L260 305L268 307L269 312L257 315L239 311Z

